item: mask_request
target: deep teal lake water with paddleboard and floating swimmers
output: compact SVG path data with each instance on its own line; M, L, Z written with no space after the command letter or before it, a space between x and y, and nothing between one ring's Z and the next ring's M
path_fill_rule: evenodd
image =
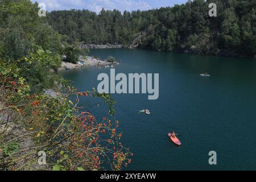
M183 55L137 49L93 49L90 55L121 60L117 73L159 73L159 98L113 94L122 143L134 153L127 170L256 169L256 61ZM211 77L200 77L208 72ZM110 68L80 68L63 73L80 91L97 88ZM85 102L85 101L84 101ZM100 102L100 101L98 101ZM107 106L86 102L99 118ZM102 109L106 109L102 111ZM151 115L138 114L149 109ZM180 134L175 146L168 132ZM208 155L217 152L217 165Z

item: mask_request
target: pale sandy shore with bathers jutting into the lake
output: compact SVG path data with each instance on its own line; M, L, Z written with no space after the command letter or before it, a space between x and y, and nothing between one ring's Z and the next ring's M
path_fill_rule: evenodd
M92 59L92 57L87 57L87 59L82 59L82 57L80 57L79 60L84 61L85 64L84 65L73 64L73 63L68 63L63 61L61 63L61 68L59 68L59 70L65 70L66 68L69 68L69 69L81 68L81 67L92 66L92 65L105 66L107 64L112 64L112 63L109 63L108 61Z

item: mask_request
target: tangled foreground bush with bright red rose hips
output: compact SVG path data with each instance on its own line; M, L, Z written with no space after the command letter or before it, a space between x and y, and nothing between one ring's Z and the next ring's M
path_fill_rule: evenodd
M101 97L114 114L109 95L77 93L65 80L56 98L32 92L36 85L22 77L26 71L18 65L32 65L38 56L31 53L17 64L0 61L0 170L99 170L106 164L119 170L130 163L118 121L78 107L81 97ZM39 151L46 152L46 165L38 164Z

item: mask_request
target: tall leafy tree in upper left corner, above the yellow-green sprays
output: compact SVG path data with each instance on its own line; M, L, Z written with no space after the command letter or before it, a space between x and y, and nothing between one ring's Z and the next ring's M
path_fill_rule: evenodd
M28 0L13 1L13 4L7 0L0 1L0 7L10 5L9 11L0 11L2 59L17 60L26 56L32 51L33 44L52 52L60 51L61 36L44 23L43 17L38 16L38 3Z

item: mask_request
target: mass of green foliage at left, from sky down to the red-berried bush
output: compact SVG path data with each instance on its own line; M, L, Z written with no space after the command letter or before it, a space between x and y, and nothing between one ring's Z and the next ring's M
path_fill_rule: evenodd
M38 16L38 3L3 0L1 7L0 60L16 64L32 92L53 86L56 75L51 70L61 64L61 35Z

